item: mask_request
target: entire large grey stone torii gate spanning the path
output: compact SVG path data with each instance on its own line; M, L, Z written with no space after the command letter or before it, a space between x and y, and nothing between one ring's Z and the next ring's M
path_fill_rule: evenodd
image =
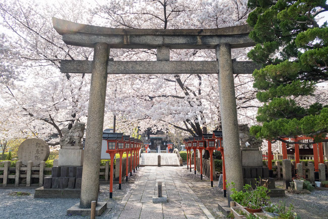
M254 46L248 25L220 29L120 29L52 19L67 45L94 48L93 61L61 61L63 73L91 73L80 207L98 199L107 74L218 74L227 181L243 187L233 74L251 74L253 62L232 61L231 49ZM156 49L157 61L110 61L111 49ZM170 61L170 49L215 49L216 61ZM228 191L229 197L229 191Z

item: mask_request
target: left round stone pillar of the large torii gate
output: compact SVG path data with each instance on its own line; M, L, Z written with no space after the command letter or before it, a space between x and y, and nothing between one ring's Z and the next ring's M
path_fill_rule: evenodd
M107 85L107 61L110 49L105 43L94 46L90 85L88 120L83 158L80 207L91 207L98 200L99 168L103 117Z

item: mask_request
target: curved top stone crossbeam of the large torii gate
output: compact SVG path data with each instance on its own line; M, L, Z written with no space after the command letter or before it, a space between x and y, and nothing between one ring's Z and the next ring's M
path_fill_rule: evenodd
M68 45L93 48L107 43L116 49L215 49L227 43L231 48L254 46L248 25L218 29L122 29L99 27L52 18L54 29Z

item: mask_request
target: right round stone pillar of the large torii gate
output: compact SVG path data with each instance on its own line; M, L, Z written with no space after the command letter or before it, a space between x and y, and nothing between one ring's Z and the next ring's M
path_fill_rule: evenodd
M227 183L234 182L235 188L240 191L243 189L244 180L239 144L237 105L230 45L222 44L217 46L215 53L219 66L218 88L220 92L220 109L222 118L223 145L225 146ZM228 202L230 202L230 188L227 191Z

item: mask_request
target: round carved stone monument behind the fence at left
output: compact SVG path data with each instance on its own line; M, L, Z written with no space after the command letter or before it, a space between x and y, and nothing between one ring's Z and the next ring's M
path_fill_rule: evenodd
M41 139L27 139L18 148L18 159L24 165L32 160L33 166L39 165L41 161L46 161L49 157L49 145Z

